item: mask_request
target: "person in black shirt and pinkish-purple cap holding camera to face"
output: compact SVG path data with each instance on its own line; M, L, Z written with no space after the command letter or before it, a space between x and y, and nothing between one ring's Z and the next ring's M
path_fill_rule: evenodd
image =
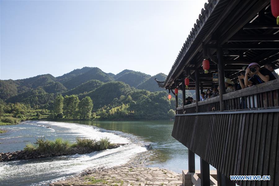
M250 78L248 76L249 74L251 76ZM251 84L257 85L274 79L275 77L268 69L260 69L260 65L258 63L250 63L246 69L244 83L245 86L249 86Z

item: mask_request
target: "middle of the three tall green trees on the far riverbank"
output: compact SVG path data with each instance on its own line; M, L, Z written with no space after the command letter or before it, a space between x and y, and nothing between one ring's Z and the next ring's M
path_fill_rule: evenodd
M68 119L78 118L78 103L77 95L66 95L63 102L64 115Z

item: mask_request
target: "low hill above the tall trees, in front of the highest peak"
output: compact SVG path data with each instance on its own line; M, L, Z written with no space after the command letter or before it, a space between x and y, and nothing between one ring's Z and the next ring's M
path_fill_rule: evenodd
M92 79L88 82L82 83L81 85L77 86L76 88L73 88L72 90L64 92L63 95L82 94L84 92L90 92L103 84L104 82Z

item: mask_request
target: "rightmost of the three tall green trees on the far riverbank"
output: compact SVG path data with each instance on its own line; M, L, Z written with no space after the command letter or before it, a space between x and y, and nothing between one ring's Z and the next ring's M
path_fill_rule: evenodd
M93 109L91 98L89 96L83 98L78 104L78 109L80 119L89 119L91 117L91 112Z

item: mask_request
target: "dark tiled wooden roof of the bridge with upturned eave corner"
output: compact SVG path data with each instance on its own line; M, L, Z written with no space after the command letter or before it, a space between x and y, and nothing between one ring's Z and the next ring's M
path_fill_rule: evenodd
M195 87L195 69L199 69L203 87L216 83L212 73L217 72L217 43L223 48L225 77L233 82L243 66L279 61L279 26L270 0L209 0L198 18L166 80L156 80L160 87L173 89L174 82L185 77L191 78L189 87ZM208 74L201 67L205 58L210 59Z

